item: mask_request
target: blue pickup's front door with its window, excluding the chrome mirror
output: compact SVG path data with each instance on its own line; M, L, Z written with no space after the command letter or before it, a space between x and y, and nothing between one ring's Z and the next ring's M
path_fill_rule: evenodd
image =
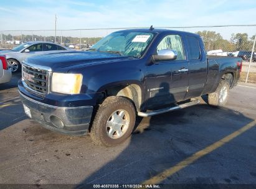
M182 101L187 92L188 67L183 39L180 35L166 35L156 48L176 50L176 60L159 61L147 67L146 88L147 108L158 108L166 104Z

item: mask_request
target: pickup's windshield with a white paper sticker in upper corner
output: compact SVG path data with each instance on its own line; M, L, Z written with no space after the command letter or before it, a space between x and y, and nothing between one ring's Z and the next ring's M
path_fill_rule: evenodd
M154 34L149 32L114 32L97 42L89 50L140 58L148 48Z

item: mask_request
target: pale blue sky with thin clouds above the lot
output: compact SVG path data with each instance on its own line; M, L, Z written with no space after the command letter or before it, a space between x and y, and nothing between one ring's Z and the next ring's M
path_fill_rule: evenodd
M0 0L1 30L88 29L110 27L183 27L196 25L256 24L255 0ZM201 29L184 29L195 32ZM183 30L183 29L180 29ZM256 33L256 27L213 28L224 37L231 33ZM83 31L102 37L113 30ZM19 32L12 32L19 34ZM26 33L26 32L25 32ZM42 32L34 32L41 34ZM45 35L54 35L46 32ZM58 32L57 35L60 35ZM80 35L63 31L62 35Z

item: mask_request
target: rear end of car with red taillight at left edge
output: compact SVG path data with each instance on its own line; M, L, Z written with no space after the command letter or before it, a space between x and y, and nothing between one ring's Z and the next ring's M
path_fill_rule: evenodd
M12 71L7 66L6 56L0 55L0 83L7 83L11 80Z

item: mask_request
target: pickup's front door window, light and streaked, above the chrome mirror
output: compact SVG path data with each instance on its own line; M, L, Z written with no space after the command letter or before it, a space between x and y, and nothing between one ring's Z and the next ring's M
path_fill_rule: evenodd
M163 49L176 50L177 59L176 60L185 60L183 42L181 36L179 35L167 35L156 47L156 52Z

